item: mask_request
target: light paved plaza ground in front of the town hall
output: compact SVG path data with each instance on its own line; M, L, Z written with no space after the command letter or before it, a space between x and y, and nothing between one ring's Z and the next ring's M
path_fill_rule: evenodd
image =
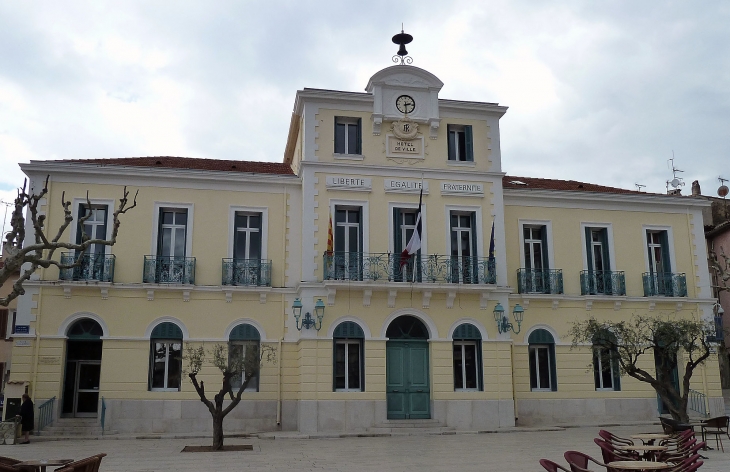
M566 465L563 452L582 451L600 458L593 443L598 427L561 431L503 432L433 436L336 439L239 439L226 444L252 444L253 451L181 453L186 445L207 445L207 438L37 440L3 446L0 455L18 459L82 458L108 454L101 472L148 471L540 471L541 458ZM606 428L628 436L658 432L659 426ZM727 452L707 451L701 472L730 471ZM714 440L712 441L714 446Z

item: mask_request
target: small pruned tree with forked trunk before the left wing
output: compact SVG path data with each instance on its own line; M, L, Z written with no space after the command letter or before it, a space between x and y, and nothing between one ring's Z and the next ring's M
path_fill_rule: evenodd
M190 377L200 401L208 407L208 411L213 417L213 449L221 450L223 449L223 420L241 402L244 390L252 379L258 377L261 365L264 362L276 362L276 349L268 344L262 344L252 349L229 352L228 346L225 344L216 344L211 350L206 350L202 345L190 345L185 348L183 357L186 362L185 372ZM205 382L198 380L198 375L207 358L210 358L213 366L223 375L218 393L213 396L212 401L206 395ZM235 393L234 380L236 383L240 382ZM224 404L226 396L230 400L228 405Z

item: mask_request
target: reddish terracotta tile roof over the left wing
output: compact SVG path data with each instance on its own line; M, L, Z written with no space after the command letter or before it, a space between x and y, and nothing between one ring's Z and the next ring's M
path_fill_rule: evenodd
M168 169L212 170L218 172L294 175L291 166L281 162L227 161L193 157L152 156L111 159L66 159L61 162L96 164L99 166L160 167Z

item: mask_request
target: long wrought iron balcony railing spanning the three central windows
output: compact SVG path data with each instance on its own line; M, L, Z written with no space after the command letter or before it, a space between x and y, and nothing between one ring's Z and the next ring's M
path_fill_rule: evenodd
M494 260L469 256L411 257L400 254L331 252L324 254L324 280L494 284Z

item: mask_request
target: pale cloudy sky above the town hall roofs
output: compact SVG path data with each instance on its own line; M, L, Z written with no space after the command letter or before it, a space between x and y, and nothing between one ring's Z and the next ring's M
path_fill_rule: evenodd
M730 179L730 2L0 0L0 198L31 159L281 162L296 91L364 91L401 23L441 98L509 107L510 175Z

